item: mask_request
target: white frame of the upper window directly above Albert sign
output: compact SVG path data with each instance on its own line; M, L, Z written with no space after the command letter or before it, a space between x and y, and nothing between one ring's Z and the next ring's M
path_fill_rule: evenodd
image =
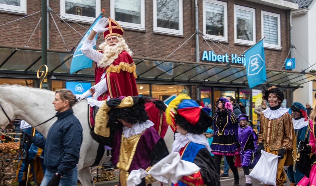
M224 36L206 34L206 3L213 3L224 6ZM214 39L218 41L228 41L228 18L227 18L227 3L216 0L203 0L203 34L205 39Z

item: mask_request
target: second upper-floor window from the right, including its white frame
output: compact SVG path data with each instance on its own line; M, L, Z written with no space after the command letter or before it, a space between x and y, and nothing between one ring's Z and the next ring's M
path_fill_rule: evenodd
M256 43L255 9L234 5L235 43L253 45Z

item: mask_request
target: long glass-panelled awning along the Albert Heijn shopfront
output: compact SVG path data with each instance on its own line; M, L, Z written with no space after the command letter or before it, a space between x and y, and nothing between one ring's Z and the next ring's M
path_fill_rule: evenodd
M10 70L34 72L42 65L41 49L30 47L0 46L0 72ZM70 76L72 54L69 51L48 49L47 66L51 75ZM167 59L150 59L133 56L139 80L190 82L198 84L226 84L227 86L248 85L246 68L238 65L214 64ZM77 71L73 76L94 74L91 68ZM301 84L313 81L316 73L266 69L267 86L299 88ZM231 85L228 85L231 84Z

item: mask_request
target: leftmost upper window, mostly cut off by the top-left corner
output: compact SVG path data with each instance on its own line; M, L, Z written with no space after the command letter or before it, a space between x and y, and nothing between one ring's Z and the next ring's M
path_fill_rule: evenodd
M0 10L26 14L26 0L0 0Z

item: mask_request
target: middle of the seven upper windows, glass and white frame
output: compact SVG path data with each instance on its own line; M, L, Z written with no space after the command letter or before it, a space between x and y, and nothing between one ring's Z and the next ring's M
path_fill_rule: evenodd
M154 32L183 35L182 0L153 0Z

